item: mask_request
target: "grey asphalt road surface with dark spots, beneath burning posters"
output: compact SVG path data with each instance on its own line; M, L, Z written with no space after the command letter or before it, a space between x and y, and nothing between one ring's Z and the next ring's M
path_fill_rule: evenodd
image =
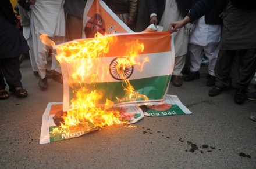
M49 79L41 91L29 59L20 70L29 97L0 100L0 168L256 168L256 122L248 118L256 102L235 104L235 89L209 97L207 68L169 87L191 115L145 117L137 128L114 125L49 144L39 144L42 114L62 101L62 84Z

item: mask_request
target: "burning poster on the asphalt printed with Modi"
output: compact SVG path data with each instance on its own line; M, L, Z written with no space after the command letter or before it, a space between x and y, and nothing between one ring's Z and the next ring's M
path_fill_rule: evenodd
M56 115L62 112L62 106L62 102L49 102L47 105L44 115L42 115L40 144L76 138L100 129L99 127L95 127L94 124L88 123L87 126L80 125L69 132L63 131L58 124L59 122L55 120ZM122 112L120 119L126 120L126 124L133 124L144 118L143 111L138 106L122 108L119 110Z

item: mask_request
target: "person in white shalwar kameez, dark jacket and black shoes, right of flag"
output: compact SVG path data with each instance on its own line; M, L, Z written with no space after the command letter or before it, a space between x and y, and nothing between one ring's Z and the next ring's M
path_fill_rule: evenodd
M190 72L184 81L190 82L200 78L199 69L203 53L209 60L207 86L215 86L215 63L219 53L223 10L227 0L218 3L207 14L194 21L195 28L189 38Z

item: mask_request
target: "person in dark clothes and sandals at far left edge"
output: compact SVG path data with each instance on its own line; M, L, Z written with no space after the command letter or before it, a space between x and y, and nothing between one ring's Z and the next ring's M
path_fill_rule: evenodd
M34 1L31 1L32 3ZM0 99L9 98L5 90L6 83L9 91L18 97L27 97L28 93L22 86L19 56L29 50L26 40L16 27L12 3L3 0L0 6Z

